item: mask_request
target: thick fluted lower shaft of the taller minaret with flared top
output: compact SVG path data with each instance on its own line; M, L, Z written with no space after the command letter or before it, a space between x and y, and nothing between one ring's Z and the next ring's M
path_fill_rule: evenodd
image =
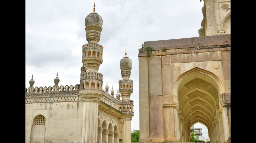
M97 89L81 89L79 96L83 102L81 142L95 143L98 139L98 107L102 91Z

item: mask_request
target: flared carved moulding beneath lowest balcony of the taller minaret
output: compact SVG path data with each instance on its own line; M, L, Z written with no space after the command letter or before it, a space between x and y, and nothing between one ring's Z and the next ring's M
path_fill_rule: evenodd
M100 102L102 91L98 89L81 89L78 94L82 101Z

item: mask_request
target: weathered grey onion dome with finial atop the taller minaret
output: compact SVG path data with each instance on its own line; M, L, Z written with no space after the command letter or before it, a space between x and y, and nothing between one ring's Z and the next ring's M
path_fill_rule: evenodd
M103 21L101 16L95 12L95 3L93 6L93 12L91 12L89 15L86 16L84 20L85 27L88 26L99 26L102 27Z

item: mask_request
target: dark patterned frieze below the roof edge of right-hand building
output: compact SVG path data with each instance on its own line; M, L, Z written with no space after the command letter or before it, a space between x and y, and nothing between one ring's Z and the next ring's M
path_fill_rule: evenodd
M178 49L167 49L163 50L153 50L151 53L161 53L161 52L177 52L177 51L190 51L190 50L202 50L202 49L216 49L216 48L226 48L230 47L231 44L227 45L216 45L216 46L202 46L202 47L191 47L191 48L178 48ZM139 51L139 54L147 53L147 51Z

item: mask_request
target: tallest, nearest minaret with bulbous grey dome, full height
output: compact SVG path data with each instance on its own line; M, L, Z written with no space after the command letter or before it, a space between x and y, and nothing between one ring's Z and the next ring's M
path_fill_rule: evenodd
M102 96L102 74L98 73L102 63L103 47L98 44L102 30L102 18L93 12L85 18L86 40L82 46L82 63L79 96L83 102L81 142L95 143L98 134L98 107Z

